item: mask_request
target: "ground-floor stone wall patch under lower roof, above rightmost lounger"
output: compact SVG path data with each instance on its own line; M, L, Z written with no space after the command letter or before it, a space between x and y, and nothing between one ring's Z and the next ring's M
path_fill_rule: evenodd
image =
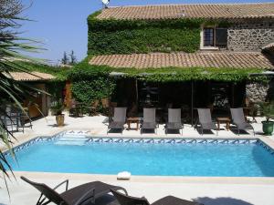
M252 103L261 103L267 100L274 100L274 78L269 84L248 83L246 94Z

